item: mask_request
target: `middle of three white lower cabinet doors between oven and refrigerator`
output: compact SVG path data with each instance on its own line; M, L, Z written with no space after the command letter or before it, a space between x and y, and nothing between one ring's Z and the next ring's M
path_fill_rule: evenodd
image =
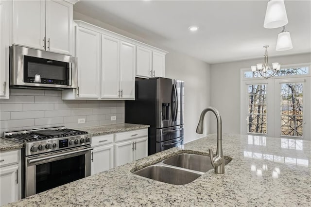
M133 141L124 141L115 144L115 165L116 167L133 162Z

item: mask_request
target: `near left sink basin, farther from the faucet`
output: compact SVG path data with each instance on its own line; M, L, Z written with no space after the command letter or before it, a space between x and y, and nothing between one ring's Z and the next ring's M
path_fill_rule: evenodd
M151 165L134 174L173 185L185 185L197 179L202 173L194 173L164 165Z

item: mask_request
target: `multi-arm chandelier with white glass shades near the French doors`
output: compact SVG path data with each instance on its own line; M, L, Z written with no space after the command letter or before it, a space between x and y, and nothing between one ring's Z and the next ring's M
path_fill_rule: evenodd
M253 77L262 77L268 79L277 75L278 71L281 68L281 65L278 63L272 63L272 69L269 66L268 62L268 50L269 45L263 46L265 52L263 55L263 63L258 63L256 66L251 66Z

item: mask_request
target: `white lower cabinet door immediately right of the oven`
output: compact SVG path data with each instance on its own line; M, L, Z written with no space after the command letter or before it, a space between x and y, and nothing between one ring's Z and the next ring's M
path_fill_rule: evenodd
M94 147L92 150L91 175L113 168L113 145Z

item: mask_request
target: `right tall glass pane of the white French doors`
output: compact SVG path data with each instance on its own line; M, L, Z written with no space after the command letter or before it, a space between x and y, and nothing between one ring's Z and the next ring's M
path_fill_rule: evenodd
M281 84L281 135L303 136L303 84Z

